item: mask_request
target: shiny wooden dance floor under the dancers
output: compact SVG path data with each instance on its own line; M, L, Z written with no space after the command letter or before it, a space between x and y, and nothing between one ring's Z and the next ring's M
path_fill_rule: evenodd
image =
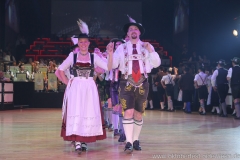
M240 159L240 121L182 111L146 111L142 151L123 152L113 133L77 155L60 137L61 109L0 111L0 160Z

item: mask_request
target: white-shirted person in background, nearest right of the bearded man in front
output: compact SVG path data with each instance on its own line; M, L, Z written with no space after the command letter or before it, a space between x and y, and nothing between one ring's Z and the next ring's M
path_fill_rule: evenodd
M176 78L175 75L171 75L172 68L168 68L165 70L166 75L162 77L161 84L165 89L167 99L168 99L168 111L173 112L173 86L175 85L174 79Z

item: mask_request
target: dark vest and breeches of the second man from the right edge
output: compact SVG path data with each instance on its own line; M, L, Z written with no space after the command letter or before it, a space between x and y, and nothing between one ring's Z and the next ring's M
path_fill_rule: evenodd
M228 94L228 81L227 81L227 70L223 69L223 68L219 68L218 69L218 76L217 76L217 92L218 92L218 96L220 99L221 103L225 102L225 99L227 97Z

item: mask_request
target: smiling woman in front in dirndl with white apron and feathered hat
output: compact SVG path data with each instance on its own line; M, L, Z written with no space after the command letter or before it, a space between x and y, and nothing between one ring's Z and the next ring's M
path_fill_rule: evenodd
M79 20L80 30L86 24ZM112 55L108 63L96 54L90 54L88 32L75 37L78 39L80 51L71 52L56 71L57 77L67 85L62 107L61 136L65 141L75 141L75 150L80 154L87 150L86 143L106 138L99 102L99 94L93 80L94 65L109 70ZM112 45L112 44L109 44ZM71 78L64 71L70 68Z

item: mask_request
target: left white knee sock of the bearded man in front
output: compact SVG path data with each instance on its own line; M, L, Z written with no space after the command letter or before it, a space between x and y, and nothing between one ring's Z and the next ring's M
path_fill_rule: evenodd
M134 120L131 119L123 119L123 128L126 135L126 142L133 143L133 126L134 126Z

